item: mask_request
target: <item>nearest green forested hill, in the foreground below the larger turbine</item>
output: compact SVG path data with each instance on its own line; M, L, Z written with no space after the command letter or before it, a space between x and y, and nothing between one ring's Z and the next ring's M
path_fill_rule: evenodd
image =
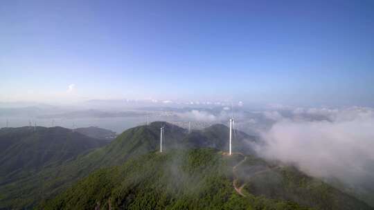
M287 179L289 198L257 196L246 189L244 196L233 187L233 168L243 160L240 154L224 155L215 149L193 149L149 153L132 159L122 166L100 169L80 180L73 187L51 200L39 204L39 209L371 209L323 182L305 178L312 188L303 188L309 196L299 194L300 179L287 167L280 173ZM248 156L240 168L266 164ZM239 167L239 166L238 166ZM267 178L267 175L257 177ZM247 177L249 178L249 177ZM240 178L242 179L242 178ZM241 180L240 182L244 182ZM260 187L267 190L274 183ZM319 194L321 191L328 193ZM338 199L335 204L331 199ZM298 204L305 200L303 206Z

